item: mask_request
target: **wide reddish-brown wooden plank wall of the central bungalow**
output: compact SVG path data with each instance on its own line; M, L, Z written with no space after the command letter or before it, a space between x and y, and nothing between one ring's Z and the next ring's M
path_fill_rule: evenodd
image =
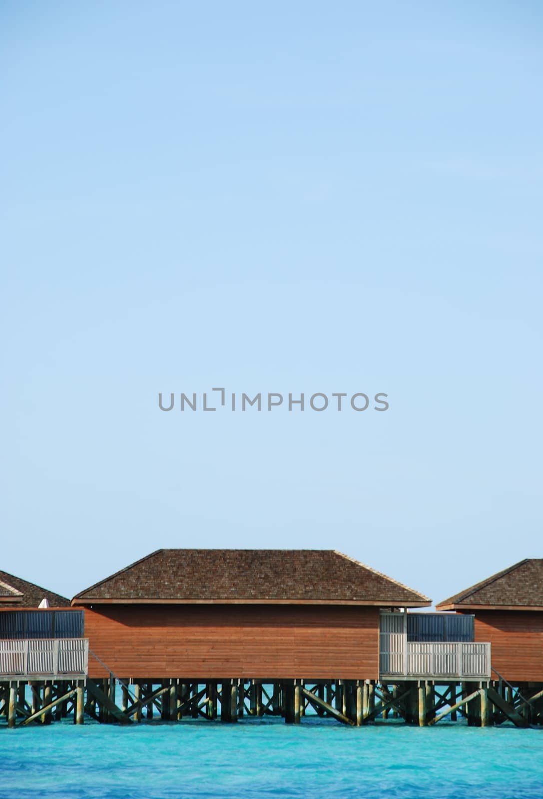
M379 610L365 606L101 605L90 650L120 678L377 679ZM90 677L105 670L89 656Z

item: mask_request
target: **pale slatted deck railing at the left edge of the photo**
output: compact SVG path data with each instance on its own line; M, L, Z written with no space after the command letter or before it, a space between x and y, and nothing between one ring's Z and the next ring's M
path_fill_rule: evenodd
M0 679L86 677L88 665L88 638L0 640Z

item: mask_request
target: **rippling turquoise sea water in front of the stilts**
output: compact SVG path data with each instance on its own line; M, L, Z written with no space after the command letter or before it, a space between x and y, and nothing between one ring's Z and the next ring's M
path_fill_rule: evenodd
M0 797L541 799L543 729L305 718L0 729Z

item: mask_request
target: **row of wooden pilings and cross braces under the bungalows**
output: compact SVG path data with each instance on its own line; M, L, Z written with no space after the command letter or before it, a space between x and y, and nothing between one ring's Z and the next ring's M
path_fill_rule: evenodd
M345 725L405 721L432 726L464 720L470 726L512 722L543 726L543 683L512 686L502 681L404 680L0 680L0 724L81 725L185 721L202 718L235 723L277 716L300 724L305 715Z

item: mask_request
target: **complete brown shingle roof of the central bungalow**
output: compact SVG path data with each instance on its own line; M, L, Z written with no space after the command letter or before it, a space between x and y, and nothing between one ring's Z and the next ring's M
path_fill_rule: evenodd
M430 603L423 594L331 550L162 549L90 586L72 602L90 600Z

